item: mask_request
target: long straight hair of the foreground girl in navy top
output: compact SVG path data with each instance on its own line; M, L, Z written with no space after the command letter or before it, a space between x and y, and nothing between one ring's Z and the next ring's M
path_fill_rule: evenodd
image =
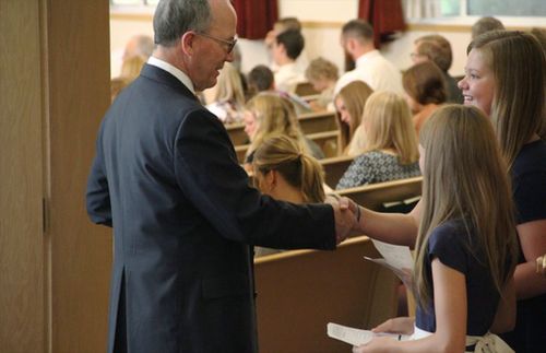
M420 144L425 165L414 271L416 298L425 308L431 301L432 284L425 266L428 239L450 220L463 221L468 233L476 234L486 255L485 266L501 293L515 267L518 239L506 162L489 119L475 107L444 106L423 127Z

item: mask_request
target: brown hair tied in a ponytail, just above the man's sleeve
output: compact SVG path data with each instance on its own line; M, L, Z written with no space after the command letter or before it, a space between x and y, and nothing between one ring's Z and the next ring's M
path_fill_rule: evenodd
M269 137L256 150L252 165L256 173L278 172L301 192L304 202L324 202L322 166L294 139L286 136Z

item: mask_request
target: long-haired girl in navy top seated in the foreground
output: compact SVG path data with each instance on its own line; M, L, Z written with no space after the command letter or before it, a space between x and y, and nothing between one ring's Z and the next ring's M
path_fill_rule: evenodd
M420 146L416 318L373 329L413 336L404 342L375 338L354 352L511 352L489 333L515 321L518 257L506 163L492 127L477 108L447 106L424 127ZM480 350L485 344L490 351Z

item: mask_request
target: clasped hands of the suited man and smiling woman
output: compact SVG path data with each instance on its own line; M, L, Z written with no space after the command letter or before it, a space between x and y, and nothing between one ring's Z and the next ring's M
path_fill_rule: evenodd
M363 233L360 227L361 209L358 204L335 193L329 195L325 202L334 209L336 244L342 243L349 235Z

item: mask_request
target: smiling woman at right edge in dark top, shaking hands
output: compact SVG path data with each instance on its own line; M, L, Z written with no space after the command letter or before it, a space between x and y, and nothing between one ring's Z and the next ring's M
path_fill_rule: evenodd
M466 73L459 86L464 104L476 106L492 122L517 209L518 313L515 330L502 339L517 352L544 352L546 276L536 273L536 258L546 254L546 142L538 138L544 123L544 51L532 35L515 31L484 34L467 51ZM498 199L491 201L497 203ZM422 209L418 203L410 214L383 214L360 208L358 232L413 246Z

